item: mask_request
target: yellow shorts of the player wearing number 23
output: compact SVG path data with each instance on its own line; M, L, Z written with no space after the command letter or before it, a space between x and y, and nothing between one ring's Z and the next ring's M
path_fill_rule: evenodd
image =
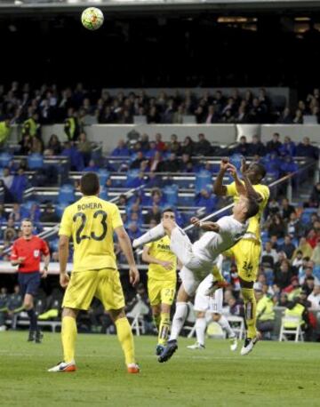
M124 291L117 270L104 268L72 273L62 307L86 310L93 297L100 299L106 310L124 307Z

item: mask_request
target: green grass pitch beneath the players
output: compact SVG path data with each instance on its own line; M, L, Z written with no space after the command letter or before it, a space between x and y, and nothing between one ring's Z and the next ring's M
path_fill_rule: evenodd
M0 332L1 406L319 406L318 343L260 342L251 355L231 353L228 341L207 340L190 351L180 339L168 363L154 355L156 338L135 337L139 375L124 369L116 336L79 335L74 373L48 373L60 362L60 335L44 343L26 332Z

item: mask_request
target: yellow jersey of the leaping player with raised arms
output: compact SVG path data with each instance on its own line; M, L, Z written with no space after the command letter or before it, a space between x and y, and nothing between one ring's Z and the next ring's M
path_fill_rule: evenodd
M236 183L232 182L231 184L227 185L227 196L233 196L235 203L239 200L239 194L236 190ZM260 194L262 197L262 201L259 203L259 212L256 216L253 216L249 220L249 227L246 233L251 233L255 235L255 237L260 241L260 222L262 218L263 211L268 203L268 198L270 196L270 190L267 185L257 184L252 185L253 189ZM245 238L245 235L244 235Z

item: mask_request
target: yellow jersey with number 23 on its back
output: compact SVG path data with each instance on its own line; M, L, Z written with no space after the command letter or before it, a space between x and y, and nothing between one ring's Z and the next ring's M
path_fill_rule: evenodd
M74 271L116 269L113 234L123 226L115 203L84 196L63 212L59 235L73 238Z

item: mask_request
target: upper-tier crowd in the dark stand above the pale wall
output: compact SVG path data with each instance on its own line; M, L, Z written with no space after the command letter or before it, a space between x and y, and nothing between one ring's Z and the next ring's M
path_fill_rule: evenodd
M281 104L280 104L281 105ZM132 124L134 116L145 116L148 124L182 124L184 116L195 116L198 124L303 124L304 116L315 116L319 123L319 89L299 100L291 109L276 106L264 88L255 94L248 89L231 94L220 90L199 95L186 89L168 94L148 95L140 92L118 92L106 89L84 89L76 84L72 89L59 89L56 84L32 88L30 84L12 82L5 89L0 85L0 117L9 117L12 124L23 124L34 116L38 124L56 124L75 120L85 124Z

